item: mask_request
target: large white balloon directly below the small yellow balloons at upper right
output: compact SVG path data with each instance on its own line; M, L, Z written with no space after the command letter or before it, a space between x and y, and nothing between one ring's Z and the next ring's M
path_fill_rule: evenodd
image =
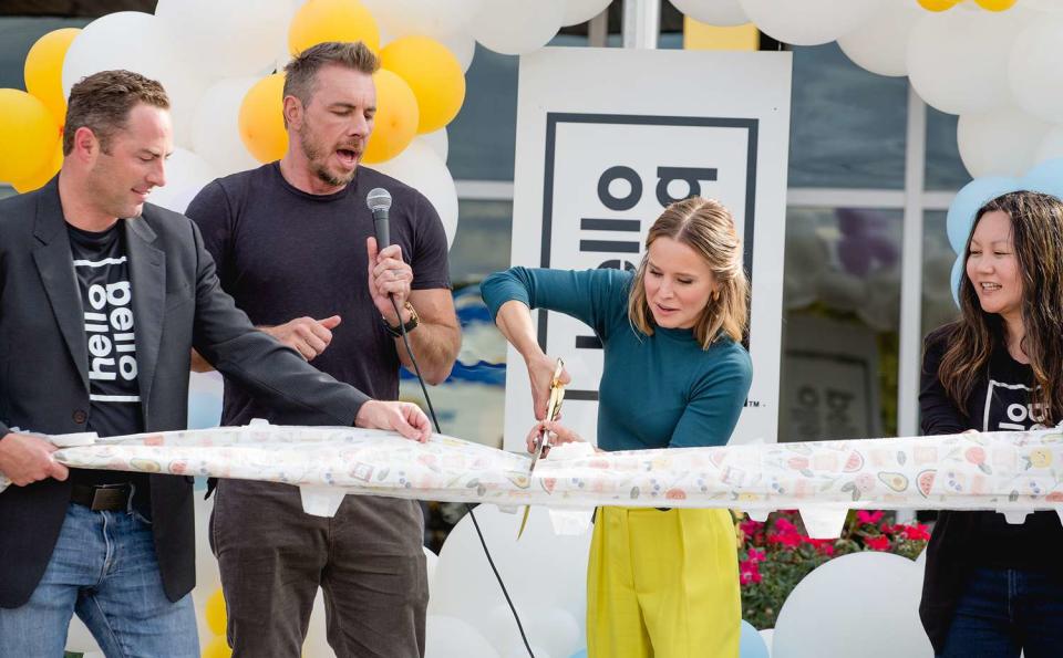
M1008 58L1024 15L1012 13L926 12L908 40L908 80L919 96L949 114L1008 105Z

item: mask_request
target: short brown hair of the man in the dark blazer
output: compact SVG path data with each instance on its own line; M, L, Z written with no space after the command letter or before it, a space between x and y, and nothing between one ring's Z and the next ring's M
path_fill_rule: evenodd
M63 155L74 149L74 133L85 127L107 153L111 138L126 126L130 112L144 103L169 109L169 96L156 81L132 71L101 71L82 77L70 88L66 123L63 126Z

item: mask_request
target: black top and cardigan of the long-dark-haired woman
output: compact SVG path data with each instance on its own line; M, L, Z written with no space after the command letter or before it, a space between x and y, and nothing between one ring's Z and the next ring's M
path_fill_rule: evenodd
M923 346L919 406L925 435L968 429L1010 431L1040 429L1042 409L1031 401L1034 379L1026 364L1014 361L1001 341L989 367L978 379L963 409L957 408L938 378L938 368L954 328L947 325L927 336ZM974 567L1021 568L1060 573L1063 525L1055 512L1034 512L1011 524L998 512L942 511L927 547L927 570L920 614L935 646L951 623L952 609Z

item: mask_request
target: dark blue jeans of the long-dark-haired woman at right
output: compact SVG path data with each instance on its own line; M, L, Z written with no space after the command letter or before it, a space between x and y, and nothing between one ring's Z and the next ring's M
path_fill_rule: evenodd
M1063 656L1063 578L976 568L960 596L938 658Z

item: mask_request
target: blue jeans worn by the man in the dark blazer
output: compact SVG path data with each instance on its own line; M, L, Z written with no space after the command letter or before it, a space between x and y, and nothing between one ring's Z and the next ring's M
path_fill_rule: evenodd
M75 612L107 658L199 656L192 597L166 598L152 526L135 512L70 504L30 600L0 608L0 656L61 657Z

